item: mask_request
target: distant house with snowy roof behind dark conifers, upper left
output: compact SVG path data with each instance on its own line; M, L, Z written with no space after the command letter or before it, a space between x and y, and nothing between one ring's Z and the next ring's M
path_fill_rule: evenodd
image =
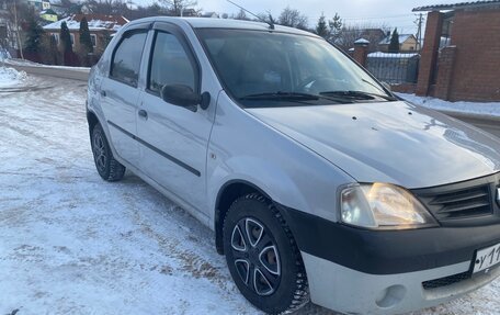
M87 18L89 23L90 37L94 52L98 54L105 49L112 34L128 23L128 20L121 15L72 14L66 19L45 25L44 31L50 34L56 43L59 44L60 26L63 22L66 22L71 36L73 50L78 52L80 49L80 22L83 16Z

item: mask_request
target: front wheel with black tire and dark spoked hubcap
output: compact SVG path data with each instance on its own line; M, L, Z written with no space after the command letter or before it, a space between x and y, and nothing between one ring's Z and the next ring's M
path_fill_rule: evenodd
M224 221L224 250L232 280L259 310L285 314L309 302L295 239L279 210L262 195L250 193L231 204Z

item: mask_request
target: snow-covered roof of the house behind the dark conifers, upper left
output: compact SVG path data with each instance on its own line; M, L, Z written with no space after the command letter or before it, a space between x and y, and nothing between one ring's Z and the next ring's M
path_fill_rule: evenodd
M80 30L80 22L87 18L89 31L118 31L120 27L128 23L128 20L122 15L104 15L104 14L72 14L57 22L47 24L44 30L60 30L63 22L66 22L70 31Z

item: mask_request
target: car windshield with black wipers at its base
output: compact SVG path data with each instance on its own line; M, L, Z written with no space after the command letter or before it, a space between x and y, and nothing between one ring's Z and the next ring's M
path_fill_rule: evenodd
M391 101L328 42L248 30L197 30L227 92L243 106Z

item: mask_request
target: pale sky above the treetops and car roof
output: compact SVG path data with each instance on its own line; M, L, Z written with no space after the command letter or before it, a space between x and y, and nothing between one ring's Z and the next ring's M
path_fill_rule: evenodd
M134 0L133 0L134 1ZM152 0L136 0L138 3L148 3ZM289 5L299 10L309 20L309 26L316 25L321 13L328 19L333 18L336 12L343 19L345 24L363 24L366 26L398 27L399 33L416 33L413 23L417 19L411 9L421 5L465 2L466 0L234 0L254 13L270 11L273 16ZM197 0L197 7L204 12L237 13L238 8L226 0ZM425 14L424 14L425 15Z

